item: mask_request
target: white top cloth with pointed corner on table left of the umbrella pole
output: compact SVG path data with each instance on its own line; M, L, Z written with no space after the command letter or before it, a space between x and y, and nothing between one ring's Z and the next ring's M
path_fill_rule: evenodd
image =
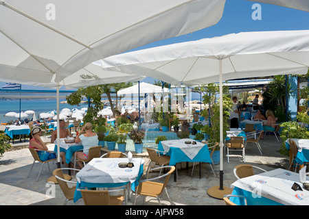
M198 152L203 148L203 146L205 146L205 144L201 142L196 141L196 144L185 144L185 141L193 142L194 140L190 138L184 138L181 140L162 141L161 144L164 149L163 154L168 153L168 151L170 151L170 147L172 146L172 147L181 149L181 151L183 151L183 153L185 153L187 157L189 157L190 159L193 159L198 154Z

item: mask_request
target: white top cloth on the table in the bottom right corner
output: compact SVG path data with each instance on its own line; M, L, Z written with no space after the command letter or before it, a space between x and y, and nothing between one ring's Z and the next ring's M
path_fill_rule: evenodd
M292 189L295 182L303 191ZM309 205L309 191L299 183L299 174L281 168L238 179L231 184L231 188L234 187L252 192L256 198L263 196L284 205Z

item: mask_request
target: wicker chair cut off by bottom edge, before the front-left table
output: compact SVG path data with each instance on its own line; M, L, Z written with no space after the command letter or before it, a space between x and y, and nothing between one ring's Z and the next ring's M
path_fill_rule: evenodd
M112 192L123 191L122 195L111 196ZM80 190L84 205L122 205L126 187L119 190Z

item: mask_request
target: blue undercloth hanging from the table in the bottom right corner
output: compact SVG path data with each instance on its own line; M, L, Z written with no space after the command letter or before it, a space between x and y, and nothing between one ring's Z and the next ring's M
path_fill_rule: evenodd
M258 194L253 194L247 190L242 190L238 187L233 189L232 194L242 195L247 199L247 205L282 205L282 203L277 203L269 198L263 196L258 196ZM244 198L230 197L230 201L236 203L236 205L244 205Z

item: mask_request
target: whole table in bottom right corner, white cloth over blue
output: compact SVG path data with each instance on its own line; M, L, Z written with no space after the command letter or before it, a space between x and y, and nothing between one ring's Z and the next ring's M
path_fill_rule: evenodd
M238 179L231 188L232 194L247 199L247 205L309 205L309 191L299 181L299 173L277 168ZM243 198L231 196L230 201L244 205Z

